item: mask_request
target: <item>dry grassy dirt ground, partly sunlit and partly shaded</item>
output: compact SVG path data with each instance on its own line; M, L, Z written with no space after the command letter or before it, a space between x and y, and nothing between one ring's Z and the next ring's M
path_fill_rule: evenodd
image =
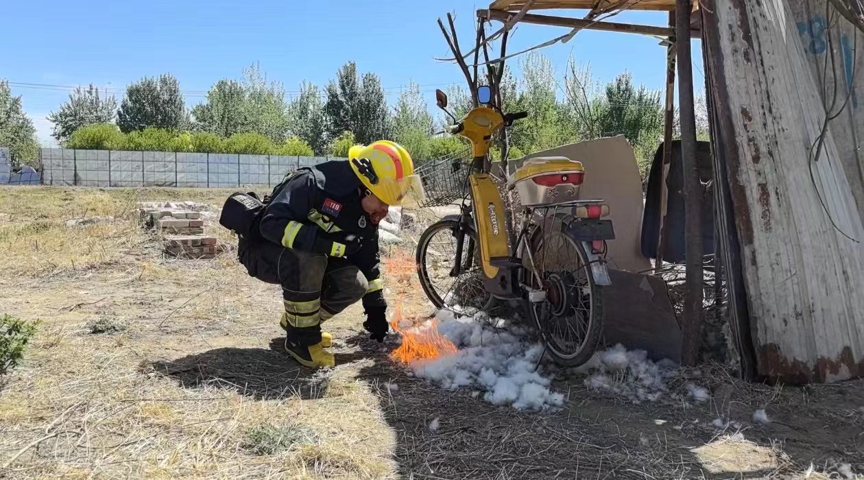
M216 208L226 193L0 188L0 313L43 322L24 362L0 377L0 477L864 474L861 381L747 385L707 366L670 388L696 379L710 401L634 405L567 370L554 382L565 407L518 411L411 376L389 357L392 342L361 334L359 306L326 324L336 368L299 367L279 344L278 287L246 275L231 251L162 256L137 226L138 201ZM66 225L92 216L112 219ZM232 242L215 216L207 231ZM431 313L419 290L387 294L407 314ZM753 411L763 407L771 422L759 425ZM718 429L718 417L740 425Z

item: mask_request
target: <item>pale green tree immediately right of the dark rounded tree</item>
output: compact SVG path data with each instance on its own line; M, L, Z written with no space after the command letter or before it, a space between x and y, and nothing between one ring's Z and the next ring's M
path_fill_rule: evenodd
M248 129L245 101L243 85L234 80L221 79L207 92L206 101L195 105L192 115L200 129L229 137Z

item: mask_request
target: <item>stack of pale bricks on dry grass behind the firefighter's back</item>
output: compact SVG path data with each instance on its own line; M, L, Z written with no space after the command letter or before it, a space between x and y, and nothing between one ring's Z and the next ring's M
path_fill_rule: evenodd
M190 258L213 258L222 252L216 237L204 235L204 220L200 212L172 204L142 205L144 228L162 237L165 253Z

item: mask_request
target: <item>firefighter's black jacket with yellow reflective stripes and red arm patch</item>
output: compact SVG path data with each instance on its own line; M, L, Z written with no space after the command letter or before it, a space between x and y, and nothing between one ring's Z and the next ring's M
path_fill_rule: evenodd
M370 307L386 307L380 279L378 225L360 206L361 188L347 161L326 161L289 174L270 194L261 215L262 237L286 248L311 251L321 231L345 231L362 238L357 253L346 260L369 281L363 297ZM289 243L289 244L285 244Z

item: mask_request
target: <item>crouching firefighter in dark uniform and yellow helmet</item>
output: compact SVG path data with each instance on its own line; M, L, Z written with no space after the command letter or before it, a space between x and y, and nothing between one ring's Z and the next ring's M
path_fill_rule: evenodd
M379 141L354 146L348 160L326 161L286 176L265 199L257 241L241 237L249 275L282 286L285 351L308 367L334 366L321 322L363 301L363 327L383 342L385 317L378 223L391 205L422 197L403 147Z

